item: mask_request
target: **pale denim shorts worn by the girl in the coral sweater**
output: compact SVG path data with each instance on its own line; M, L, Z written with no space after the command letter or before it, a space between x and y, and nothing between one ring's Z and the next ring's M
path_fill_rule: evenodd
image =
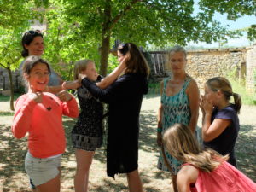
M61 155L53 158L35 158L27 152L25 158L25 170L35 186L49 182L59 173Z

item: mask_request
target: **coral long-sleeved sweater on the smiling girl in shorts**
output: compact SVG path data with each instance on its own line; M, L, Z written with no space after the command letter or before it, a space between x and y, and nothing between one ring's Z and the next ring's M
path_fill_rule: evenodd
M62 114L78 117L78 103L74 98L61 102L54 94L44 92L43 102L37 103L29 94L20 96L15 103L12 132L16 138L25 137L29 133L28 149L36 158L62 154L66 148Z

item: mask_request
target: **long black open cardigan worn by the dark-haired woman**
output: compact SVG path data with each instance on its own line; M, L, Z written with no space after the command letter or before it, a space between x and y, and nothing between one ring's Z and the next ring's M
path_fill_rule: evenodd
M82 84L100 101L109 104L107 174L128 173L137 169L139 114L143 94L148 93L146 75L126 73L101 90L84 78Z

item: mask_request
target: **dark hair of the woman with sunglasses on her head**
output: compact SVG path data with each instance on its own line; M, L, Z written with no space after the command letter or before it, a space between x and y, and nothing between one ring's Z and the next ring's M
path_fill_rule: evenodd
M43 38L43 34L39 31L39 30L30 30L24 33L22 40L21 40L21 45L23 47L23 50L21 51L21 55L23 57L28 56L28 49L25 48L25 44L29 45L32 43L32 41L34 40L34 38L36 37L41 37Z

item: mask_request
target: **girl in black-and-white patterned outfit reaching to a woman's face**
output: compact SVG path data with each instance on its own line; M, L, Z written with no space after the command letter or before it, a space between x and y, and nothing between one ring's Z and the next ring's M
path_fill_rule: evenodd
M96 73L94 61L81 60L74 67L74 80L79 80L79 76L86 75L90 81L97 82L97 86L104 89L109 84L112 84L124 69L125 62L120 64L107 78L102 79L102 76ZM76 84L73 85L77 86ZM70 84L70 86L73 85ZM77 87L73 88L76 89ZM88 178L92 158L96 148L102 146L103 107L102 102L99 102L95 97L90 95L90 92L84 85L80 86L77 92L81 112L71 134L77 160L74 186L76 192L85 192L88 190Z

